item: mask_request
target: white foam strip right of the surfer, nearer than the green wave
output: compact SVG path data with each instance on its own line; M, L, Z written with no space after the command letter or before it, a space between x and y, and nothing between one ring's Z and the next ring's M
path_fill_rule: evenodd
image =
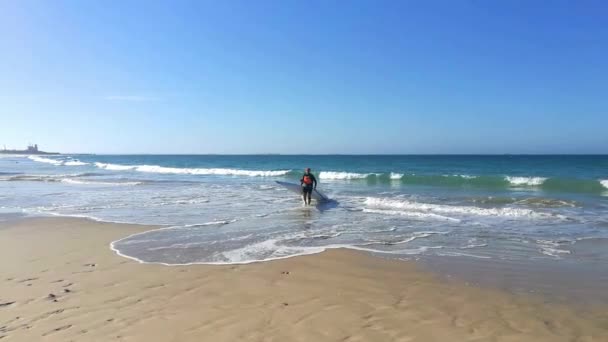
M407 200L394 200L387 198L368 197L365 204L372 208L399 210L412 215L412 213L433 214L459 214L476 216L499 216L499 217L535 217L542 216L530 209L522 208L478 208L471 206L452 206L431 203L419 203ZM390 211L390 210L385 210Z

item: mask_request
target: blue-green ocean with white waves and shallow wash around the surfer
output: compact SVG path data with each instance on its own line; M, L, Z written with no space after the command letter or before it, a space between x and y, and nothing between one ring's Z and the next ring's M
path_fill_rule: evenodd
M332 202L275 183L305 167ZM157 225L112 248L167 265L345 247L605 269L608 156L1 156L0 220L40 215Z

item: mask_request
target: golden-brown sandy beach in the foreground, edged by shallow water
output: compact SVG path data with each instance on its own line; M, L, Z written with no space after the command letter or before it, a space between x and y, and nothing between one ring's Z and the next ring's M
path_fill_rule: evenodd
M608 341L607 311L446 283L354 251L167 267L109 249L145 229L65 218L0 225L0 340Z

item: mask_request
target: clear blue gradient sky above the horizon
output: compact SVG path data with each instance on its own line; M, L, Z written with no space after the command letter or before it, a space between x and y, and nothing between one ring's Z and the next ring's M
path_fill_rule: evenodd
M606 1L0 1L0 146L608 153Z

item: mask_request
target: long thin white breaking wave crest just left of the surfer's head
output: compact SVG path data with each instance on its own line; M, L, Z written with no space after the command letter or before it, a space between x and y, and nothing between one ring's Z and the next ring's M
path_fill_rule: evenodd
M275 177L283 176L289 173L290 170L276 171L257 171L257 170L238 170L224 168L178 168L164 167L158 165L118 165L95 163L100 169L112 171L138 171L160 174L182 174L182 175L220 175L220 176L251 176L251 177Z

